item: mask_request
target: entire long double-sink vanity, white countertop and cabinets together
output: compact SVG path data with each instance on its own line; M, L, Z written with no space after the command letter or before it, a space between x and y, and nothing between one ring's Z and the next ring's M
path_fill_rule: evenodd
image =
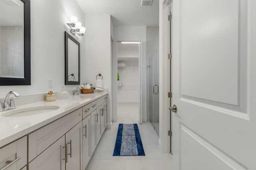
M85 170L107 125L107 92L0 112L0 170Z

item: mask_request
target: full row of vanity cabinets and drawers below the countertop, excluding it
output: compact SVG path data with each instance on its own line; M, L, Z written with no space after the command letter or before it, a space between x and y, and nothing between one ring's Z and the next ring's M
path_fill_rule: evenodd
M0 170L85 170L106 129L106 110L107 95L0 148Z

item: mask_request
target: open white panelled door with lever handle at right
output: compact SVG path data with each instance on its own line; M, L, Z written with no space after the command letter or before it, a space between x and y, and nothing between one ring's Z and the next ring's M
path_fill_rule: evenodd
M256 170L255 9L173 0L174 170Z

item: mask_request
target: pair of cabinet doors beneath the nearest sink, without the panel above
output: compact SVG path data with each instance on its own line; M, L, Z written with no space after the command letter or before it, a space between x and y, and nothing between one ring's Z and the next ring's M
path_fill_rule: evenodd
M66 142L65 142L66 141ZM81 170L82 122L29 163L31 170Z

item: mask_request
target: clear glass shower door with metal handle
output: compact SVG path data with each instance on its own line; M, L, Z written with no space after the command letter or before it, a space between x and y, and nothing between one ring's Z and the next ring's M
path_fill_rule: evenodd
M159 49L149 58L150 123L159 136Z

